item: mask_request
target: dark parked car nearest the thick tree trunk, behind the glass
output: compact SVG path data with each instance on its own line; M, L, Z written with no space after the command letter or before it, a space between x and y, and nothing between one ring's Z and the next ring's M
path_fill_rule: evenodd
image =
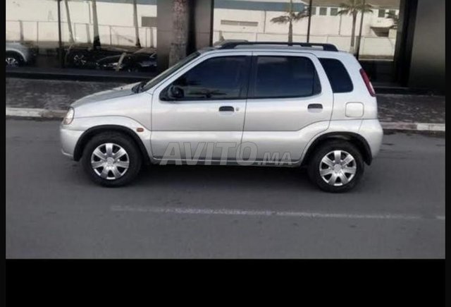
M154 48L142 48L125 56L122 54L106 56L97 61L97 68L136 72L156 71L156 52Z

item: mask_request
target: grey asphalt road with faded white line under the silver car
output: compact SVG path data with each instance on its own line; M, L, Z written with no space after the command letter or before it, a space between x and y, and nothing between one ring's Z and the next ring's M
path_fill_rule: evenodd
M58 124L6 119L7 258L445 257L445 138L384 136L346 194L276 167L149 167L101 188Z

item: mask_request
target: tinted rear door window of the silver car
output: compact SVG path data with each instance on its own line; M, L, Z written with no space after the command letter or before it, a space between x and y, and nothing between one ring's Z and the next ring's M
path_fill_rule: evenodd
M258 56L255 98L307 97L321 92L314 64L301 56Z

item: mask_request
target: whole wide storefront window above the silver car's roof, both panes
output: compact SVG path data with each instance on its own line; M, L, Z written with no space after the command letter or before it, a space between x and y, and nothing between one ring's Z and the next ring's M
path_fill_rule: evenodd
M213 42L292 40L335 44L355 54L371 80L392 81L400 0L311 2L309 10L309 0L215 0Z

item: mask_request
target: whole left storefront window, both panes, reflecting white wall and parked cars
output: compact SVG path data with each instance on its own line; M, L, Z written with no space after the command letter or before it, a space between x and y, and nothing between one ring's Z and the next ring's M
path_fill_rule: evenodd
M156 0L6 0L6 41L37 50L19 66L156 71Z

